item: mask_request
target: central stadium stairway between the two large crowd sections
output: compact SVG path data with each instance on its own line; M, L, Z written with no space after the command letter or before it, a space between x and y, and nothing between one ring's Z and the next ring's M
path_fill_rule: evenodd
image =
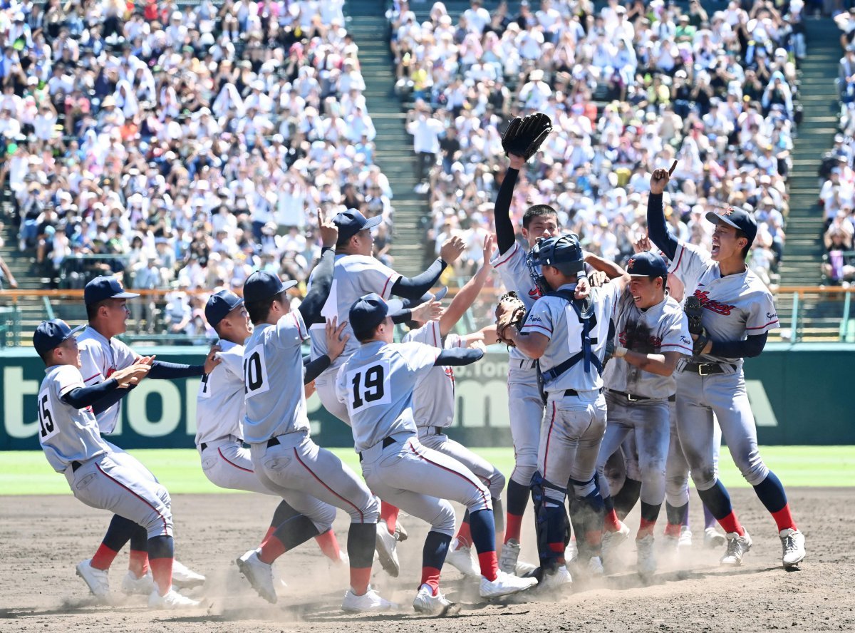
M366 106L377 130L374 162L389 179L394 193L394 267L403 275L416 275L424 268L421 223L428 212L428 205L425 196L413 191L418 184L416 155L413 139L404 127L406 112L401 99L395 94L395 68L389 52L386 4L382 0L350 0L345 4L345 13L348 16L348 33L359 46ZM429 6L427 10L430 10Z

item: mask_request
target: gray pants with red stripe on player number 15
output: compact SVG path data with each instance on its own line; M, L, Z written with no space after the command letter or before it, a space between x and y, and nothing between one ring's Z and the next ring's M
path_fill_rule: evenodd
M172 536L172 507L166 488L115 457L105 453L76 471L68 466L65 478L74 496L87 506L142 525L149 538Z

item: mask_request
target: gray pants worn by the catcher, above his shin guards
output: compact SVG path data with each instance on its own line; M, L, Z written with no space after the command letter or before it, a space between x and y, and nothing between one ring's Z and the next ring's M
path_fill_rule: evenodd
M547 482L567 488L571 479L576 482L593 479L605 433L605 417L605 398L601 393L590 400L563 393L550 396L538 451L538 469Z

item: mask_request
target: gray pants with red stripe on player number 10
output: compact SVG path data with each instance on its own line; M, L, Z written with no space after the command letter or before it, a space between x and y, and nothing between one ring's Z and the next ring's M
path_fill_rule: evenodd
M335 508L351 515L351 523L375 524L380 504L363 481L341 460L319 447L306 433L278 435L280 443L251 444L252 467L258 479L294 510L326 532Z

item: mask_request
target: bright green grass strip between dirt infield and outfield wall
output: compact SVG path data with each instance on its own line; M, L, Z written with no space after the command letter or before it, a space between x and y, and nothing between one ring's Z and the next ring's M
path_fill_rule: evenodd
M359 471L356 453L335 448L351 468ZM510 474L513 453L507 448L478 448L476 453ZM787 486L855 485L855 447L762 447L766 464ZM168 488L171 494L223 493L203 475L195 450L184 448L131 451ZM0 494L68 494L65 477L50 469L40 451L0 453ZM722 449L722 482L745 488L727 449Z

